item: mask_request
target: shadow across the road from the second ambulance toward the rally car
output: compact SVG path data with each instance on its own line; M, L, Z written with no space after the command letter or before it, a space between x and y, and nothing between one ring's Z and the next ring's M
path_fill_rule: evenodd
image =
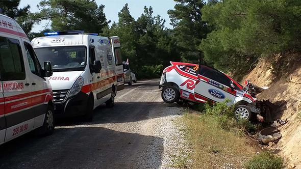
M169 116L165 111L172 107L179 108L180 105L164 102L117 102L113 108L105 105L97 107L92 122L85 122L82 117L62 118L57 120L57 126L137 122Z

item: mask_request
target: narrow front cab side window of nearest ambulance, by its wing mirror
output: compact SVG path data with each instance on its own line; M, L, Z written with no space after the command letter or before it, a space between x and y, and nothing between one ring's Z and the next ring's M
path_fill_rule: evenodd
M35 51L29 43L24 42L25 52L27 55L30 71L37 75L41 76L41 66L36 57Z

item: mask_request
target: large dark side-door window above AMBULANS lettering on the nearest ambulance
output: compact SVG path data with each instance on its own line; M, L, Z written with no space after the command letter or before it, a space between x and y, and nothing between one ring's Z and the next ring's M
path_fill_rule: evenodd
M25 69L20 42L16 39L0 37L1 80L23 80Z

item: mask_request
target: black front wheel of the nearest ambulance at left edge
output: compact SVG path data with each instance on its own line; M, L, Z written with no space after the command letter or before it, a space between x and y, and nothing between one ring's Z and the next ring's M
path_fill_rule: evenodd
M43 126L38 128L37 134L38 135L51 135L51 134L53 134L54 130L55 130L54 107L51 105L48 105L46 113L45 113Z

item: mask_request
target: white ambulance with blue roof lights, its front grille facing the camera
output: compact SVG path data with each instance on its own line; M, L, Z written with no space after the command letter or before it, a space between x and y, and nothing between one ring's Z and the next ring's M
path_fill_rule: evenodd
M49 32L32 40L40 62L53 65L51 82L57 117L84 115L92 120L93 109L114 106L117 92L116 62L107 37L84 31ZM121 55L120 55L121 57Z

